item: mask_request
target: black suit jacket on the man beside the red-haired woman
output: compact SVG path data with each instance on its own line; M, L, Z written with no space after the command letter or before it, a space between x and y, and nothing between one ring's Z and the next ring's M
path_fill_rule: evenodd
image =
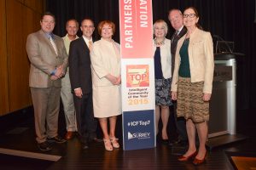
M92 91L90 50L83 37L70 43L68 63L72 91L75 88L82 88L83 94L90 94Z

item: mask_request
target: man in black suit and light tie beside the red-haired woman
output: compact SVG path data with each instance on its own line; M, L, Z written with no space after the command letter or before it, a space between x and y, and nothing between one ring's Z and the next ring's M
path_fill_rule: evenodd
M83 148L88 148L88 142L96 139L96 120L92 107L92 82L90 71L90 48L92 34L95 30L90 19L84 19L80 26L83 36L70 43L69 77L73 90L73 101L77 116L79 139Z

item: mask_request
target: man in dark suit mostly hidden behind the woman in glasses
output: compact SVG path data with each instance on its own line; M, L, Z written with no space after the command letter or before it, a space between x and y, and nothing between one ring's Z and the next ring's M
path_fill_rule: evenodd
M174 63L175 63L175 54L176 54L176 48L177 48L177 41L183 37L183 35L186 34L187 29L183 26L183 14L179 9L171 9L169 11L168 19L171 22L172 28L174 28L175 33L172 35L171 38L171 54L172 54L172 74L174 70ZM172 141L172 144L187 144L188 142L188 136L187 136L187 130L186 130L186 122L183 117L177 117L176 114L176 103L173 105L174 114L172 114L172 118L175 122L175 125L177 127L177 133L178 137L174 141Z

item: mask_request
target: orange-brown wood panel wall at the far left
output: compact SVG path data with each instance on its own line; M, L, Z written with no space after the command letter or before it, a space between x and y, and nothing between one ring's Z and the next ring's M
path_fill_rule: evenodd
M4 32L0 41L1 116L32 105L28 87L30 64L26 55L26 37L40 29L39 20L44 12L44 0L0 2L0 32Z

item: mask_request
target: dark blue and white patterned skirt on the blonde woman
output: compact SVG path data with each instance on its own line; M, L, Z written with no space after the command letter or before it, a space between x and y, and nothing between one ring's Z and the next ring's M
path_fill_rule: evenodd
M172 105L171 82L172 79L155 79L155 105Z

